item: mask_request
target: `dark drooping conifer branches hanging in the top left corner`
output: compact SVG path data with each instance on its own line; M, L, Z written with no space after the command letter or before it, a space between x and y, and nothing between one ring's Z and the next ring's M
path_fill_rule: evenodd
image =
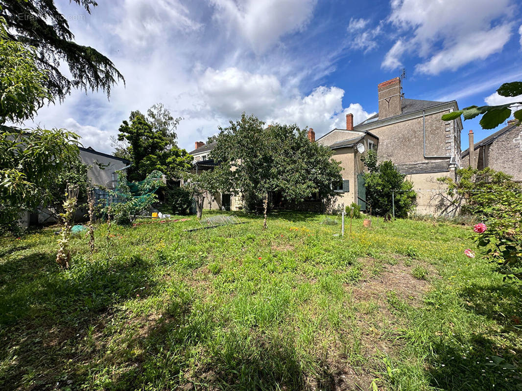
M89 14L97 5L94 0L73 1ZM53 0L0 0L0 16L7 21L9 40L32 46L39 53L36 65L47 71L46 87L53 96L63 100L72 88L101 89L109 96L112 85L124 81L109 58L73 41L67 19ZM60 69L62 61L69 72Z

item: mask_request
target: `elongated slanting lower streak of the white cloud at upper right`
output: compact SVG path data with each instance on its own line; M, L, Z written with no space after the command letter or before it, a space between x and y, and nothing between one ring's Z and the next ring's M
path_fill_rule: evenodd
M422 74L438 75L446 69L455 70L473 60L484 59L502 50L509 40L510 30L511 26L503 25L470 34L433 55L428 62L418 64L416 69Z

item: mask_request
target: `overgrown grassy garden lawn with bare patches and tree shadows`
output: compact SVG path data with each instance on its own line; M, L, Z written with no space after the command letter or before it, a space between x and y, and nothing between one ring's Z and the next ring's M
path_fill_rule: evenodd
M519 287L472 226L238 217L99 224L66 270L56 227L5 237L0 388L520 389Z

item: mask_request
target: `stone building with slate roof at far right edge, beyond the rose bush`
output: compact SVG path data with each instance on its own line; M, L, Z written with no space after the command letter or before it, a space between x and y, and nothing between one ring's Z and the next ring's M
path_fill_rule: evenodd
M522 182L522 125L517 124L516 119L507 121L507 126L477 143L470 130L469 145L473 148L462 151L462 166L479 170L490 167Z

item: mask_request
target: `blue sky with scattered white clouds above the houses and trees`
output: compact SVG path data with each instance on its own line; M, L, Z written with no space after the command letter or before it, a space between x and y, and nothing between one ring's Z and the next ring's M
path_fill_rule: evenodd
M155 103L183 118L178 144L191 151L243 111L316 138L345 128L347 113L360 123L377 111L377 84L403 69L406 98L459 108L508 102L496 89L522 80L515 0L111 0L90 15L56 3L75 41L108 56L125 85L109 99L73 91L25 125L75 131L105 153L131 111ZM495 131L463 125L462 149L470 129L476 142Z

